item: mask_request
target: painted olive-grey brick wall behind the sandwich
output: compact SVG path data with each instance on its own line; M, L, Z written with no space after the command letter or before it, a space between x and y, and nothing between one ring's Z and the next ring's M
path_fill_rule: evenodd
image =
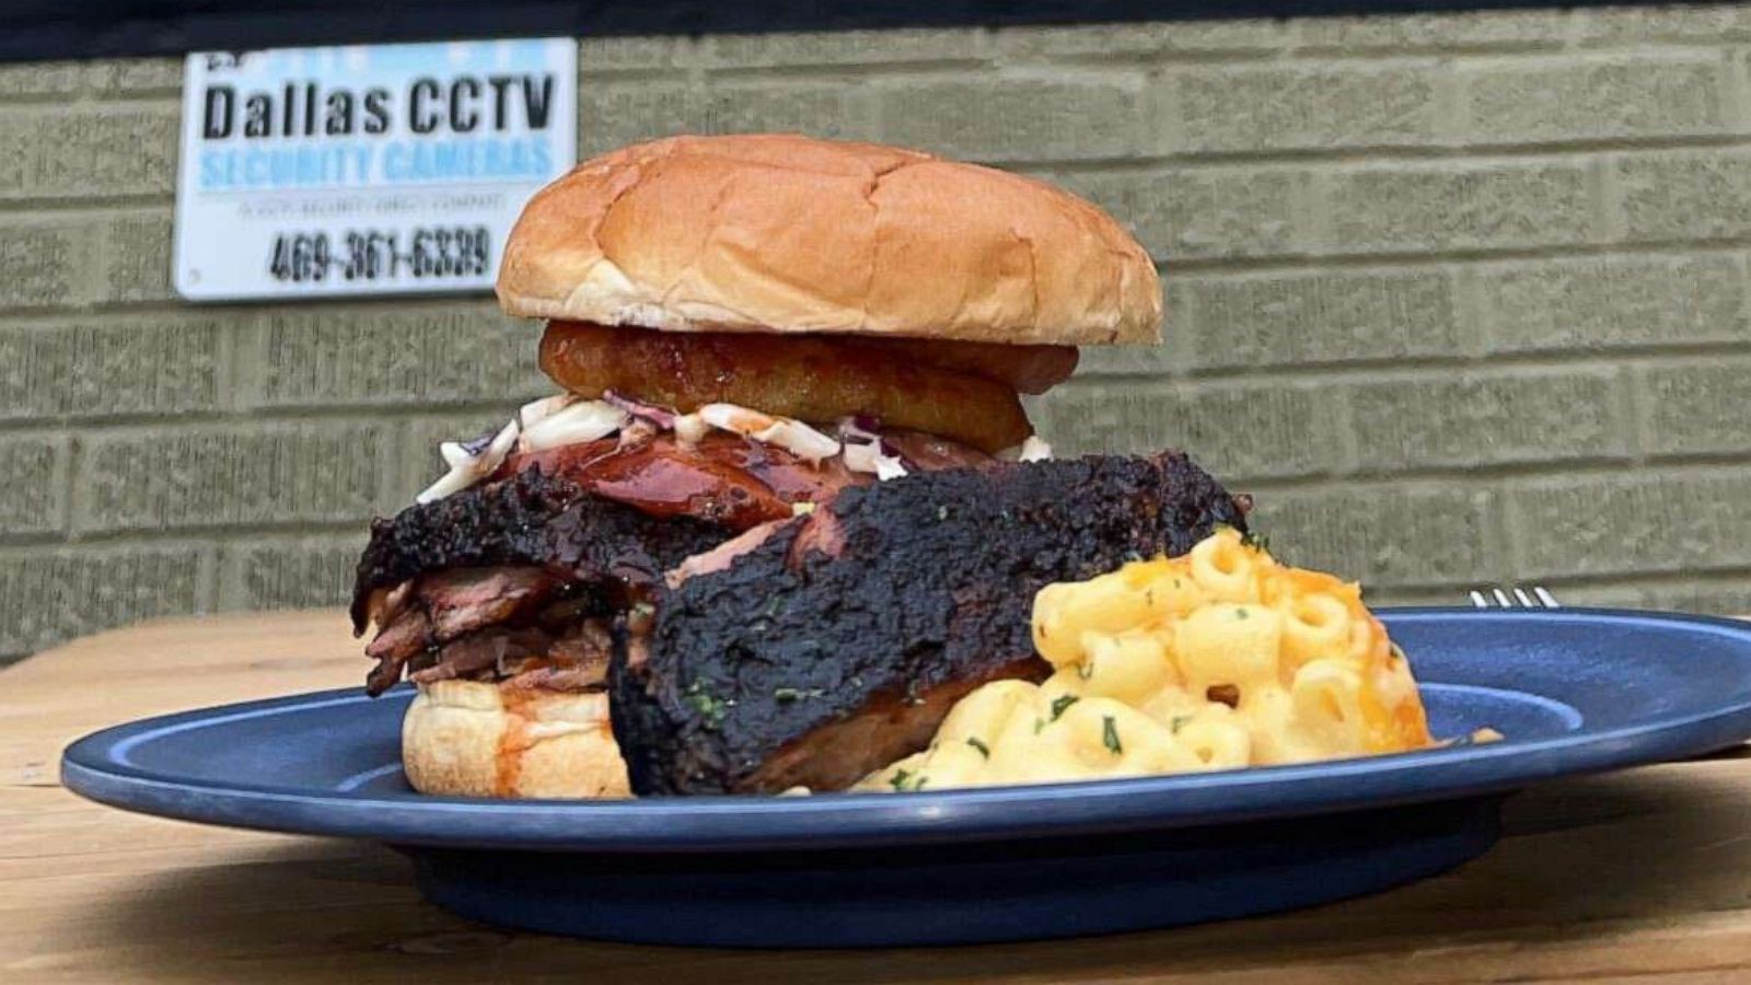
M611 39L587 152L805 130L1126 219L1168 340L1037 401L1185 445L1385 601L1751 610L1751 5ZM0 67L0 659L341 599L440 436L541 394L487 300L193 307L179 65Z

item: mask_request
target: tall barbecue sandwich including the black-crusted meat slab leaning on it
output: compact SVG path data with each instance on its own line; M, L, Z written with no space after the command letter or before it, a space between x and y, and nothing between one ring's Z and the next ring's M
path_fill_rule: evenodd
M1105 212L870 144L679 137L585 161L504 247L560 394L441 445L352 619L411 678L411 783L844 789L956 698L1042 678L1049 584L1180 554L1245 500L1177 452L1051 461L1019 394L1154 342Z

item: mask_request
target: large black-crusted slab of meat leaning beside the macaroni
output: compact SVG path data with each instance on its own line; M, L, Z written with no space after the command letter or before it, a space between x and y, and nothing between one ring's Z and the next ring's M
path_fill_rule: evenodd
M844 789L986 680L1044 678L1033 594L1184 554L1245 510L1185 456L993 464L847 489L658 585L609 670L641 794Z

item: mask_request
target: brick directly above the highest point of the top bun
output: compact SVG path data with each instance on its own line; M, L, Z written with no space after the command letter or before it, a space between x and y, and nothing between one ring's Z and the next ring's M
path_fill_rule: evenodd
M697 96L697 133L809 133L868 138L870 119L858 88L847 82L725 82Z

